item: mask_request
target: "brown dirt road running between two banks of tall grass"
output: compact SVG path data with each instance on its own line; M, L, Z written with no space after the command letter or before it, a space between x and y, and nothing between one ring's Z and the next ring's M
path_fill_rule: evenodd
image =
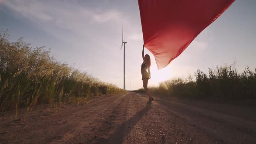
M256 143L255 108L228 114L218 111L221 105L146 102L145 95L127 92L85 105L20 111L16 120L12 112L2 112L0 143Z

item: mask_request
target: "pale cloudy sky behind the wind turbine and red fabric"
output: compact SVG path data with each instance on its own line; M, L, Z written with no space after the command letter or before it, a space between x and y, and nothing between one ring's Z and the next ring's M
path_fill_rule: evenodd
M184 52L158 70L151 56L149 86L207 72L236 61L241 72L256 68L256 0L236 0ZM0 31L10 40L51 48L51 56L123 88L122 23L126 89L142 88L143 35L137 0L0 0ZM130 86L131 85L131 86Z

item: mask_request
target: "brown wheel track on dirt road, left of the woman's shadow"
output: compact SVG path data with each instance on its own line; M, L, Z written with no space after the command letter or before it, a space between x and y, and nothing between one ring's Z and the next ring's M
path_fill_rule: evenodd
M83 120L72 129L72 131L66 132L62 139L58 141L53 141L52 143L90 143L92 142L92 137L97 138L98 134L102 134L107 129L111 129L112 119L115 118L115 114L118 113L119 106L124 101L124 97L127 95L121 95L115 101L111 103L105 102L99 107L90 108L90 111L85 111ZM76 115L79 117L79 115ZM103 128L99 125L105 125L107 128Z

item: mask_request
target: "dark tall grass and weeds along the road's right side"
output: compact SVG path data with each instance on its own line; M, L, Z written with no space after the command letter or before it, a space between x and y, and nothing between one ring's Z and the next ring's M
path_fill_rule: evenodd
M235 65L220 66L208 70L200 69L195 76L176 78L161 82L158 87L149 88L152 93L190 98L256 99L256 69L247 66L238 73ZM143 92L138 89L135 92Z

